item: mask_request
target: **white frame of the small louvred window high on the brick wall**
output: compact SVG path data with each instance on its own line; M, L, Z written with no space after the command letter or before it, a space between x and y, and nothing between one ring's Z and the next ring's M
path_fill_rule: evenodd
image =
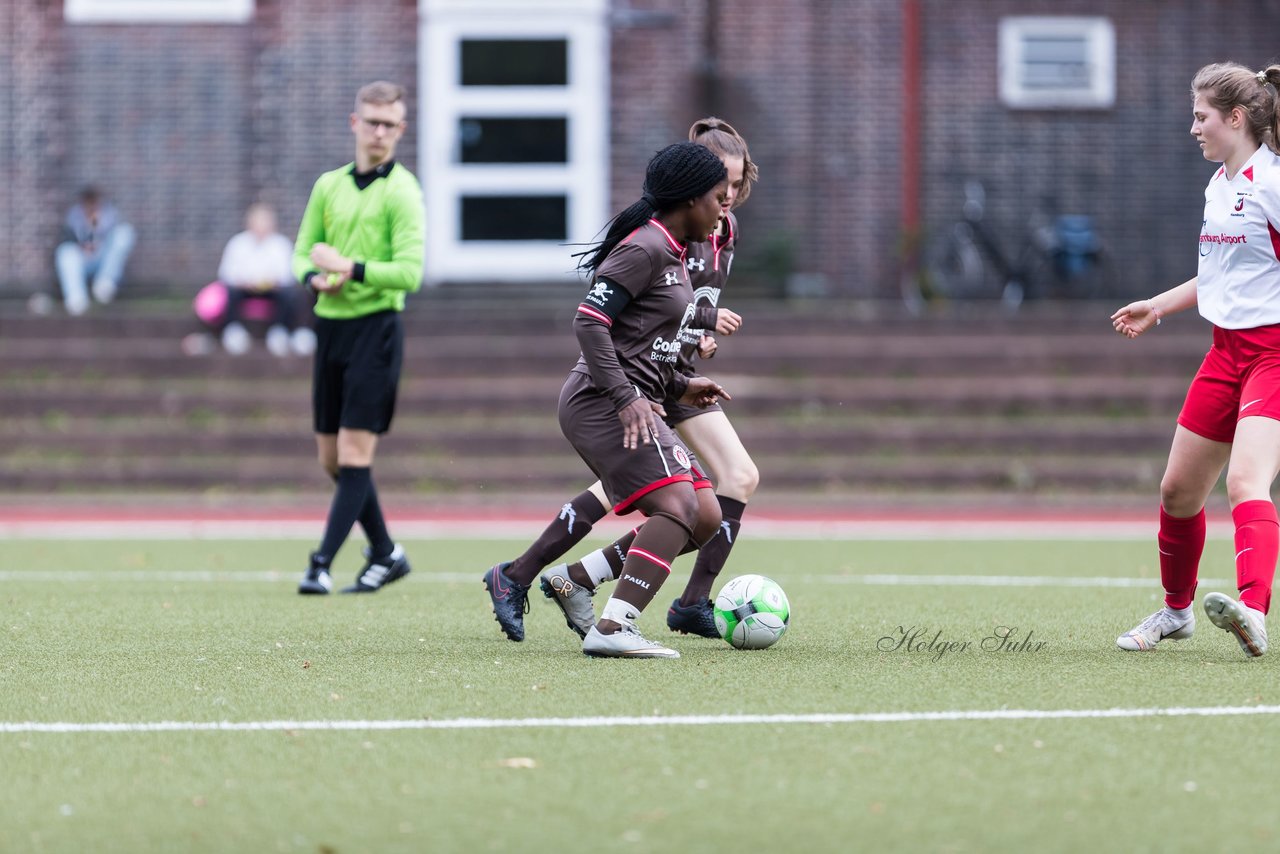
M1023 69L1028 40L1076 37L1085 42L1084 88L1028 88ZM1000 100L1014 109L1108 109L1116 95L1116 35L1108 18L1015 17L1000 20Z

